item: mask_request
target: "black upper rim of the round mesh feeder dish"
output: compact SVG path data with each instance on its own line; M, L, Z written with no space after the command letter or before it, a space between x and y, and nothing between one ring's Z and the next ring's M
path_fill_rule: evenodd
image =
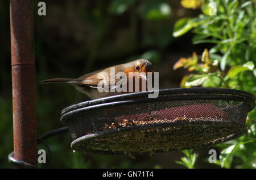
M246 91L233 90L233 89L220 89L220 88L178 88L178 89L164 89L159 90L158 98L139 98L146 97L150 94L148 91L139 93L129 93L115 95L112 97L106 97L96 99L93 101L86 101L79 104L74 104L65 108L61 113L61 122L65 122L79 112L90 111L98 108L117 107L125 104L139 104L150 103L159 101L189 101L189 100L224 100L224 101L238 101L247 103L250 106L250 110L255 107L255 96ZM189 94L189 95L187 95ZM193 95L190 95L193 94ZM202 94L202 95L200 95ZM170 95L164 97L163 95ZM135 98L135 99L134 99ZM136 99L139 98L139 99ZM132 100L126 100L132 99ZM123 101L121 101L123 100Z

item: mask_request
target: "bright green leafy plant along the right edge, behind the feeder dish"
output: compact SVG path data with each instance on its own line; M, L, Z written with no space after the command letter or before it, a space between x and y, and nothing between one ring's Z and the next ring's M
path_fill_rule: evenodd
M197 2L197 3L196 3ZM199 3L200 2L200 3ZM195 34L193 44L210 43L199 57L180 58L174 69L185 68L180 86L222 87L249 91L256 95L256 1L184 0L185 8L201 8L197 18L183 18L176 22L173 36L189 30ZM222 168L255 168L256 136L255 109L247 117L249 131L239 139L221 144Z

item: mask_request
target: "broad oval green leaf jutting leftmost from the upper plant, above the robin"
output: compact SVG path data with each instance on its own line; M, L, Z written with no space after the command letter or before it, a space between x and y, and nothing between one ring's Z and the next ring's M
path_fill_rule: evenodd
M191 18L183 18L178 20L174 25L174 33L172 34L174 37L179 37L184 35L186 32L191 30L194 26L193 19Z

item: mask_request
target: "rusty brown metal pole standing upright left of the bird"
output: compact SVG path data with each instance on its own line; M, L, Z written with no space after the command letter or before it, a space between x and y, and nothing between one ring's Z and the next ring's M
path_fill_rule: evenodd
M14 158L37 165L32 0L10 0Z

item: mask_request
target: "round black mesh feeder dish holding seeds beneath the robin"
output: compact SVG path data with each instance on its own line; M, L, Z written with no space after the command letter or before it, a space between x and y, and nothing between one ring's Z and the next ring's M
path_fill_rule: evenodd
M189 88L115 95L65 108L76 152L152 154L217 144L247 132L255 97L240 90Z

